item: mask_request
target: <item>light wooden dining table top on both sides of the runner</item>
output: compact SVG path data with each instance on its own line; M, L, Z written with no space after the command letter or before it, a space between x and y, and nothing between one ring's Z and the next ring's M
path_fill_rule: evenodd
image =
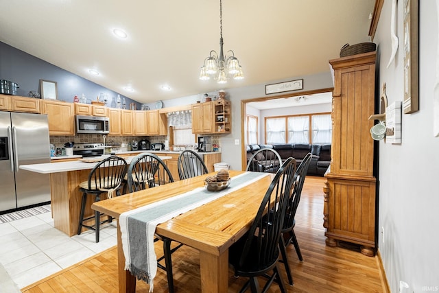
M119 218L123 212L203 187L204 178L215 173L95 202L92 209ZM232 178L242 173L229 171ZM220 255L250 228L272 175L267 174L222 198L159 224L156 233L206 253Z

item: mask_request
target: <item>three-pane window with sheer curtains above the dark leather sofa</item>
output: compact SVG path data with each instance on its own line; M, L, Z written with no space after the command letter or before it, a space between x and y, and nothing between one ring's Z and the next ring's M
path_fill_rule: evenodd
M324 144L331 139L330 113L265 117L265 143Z

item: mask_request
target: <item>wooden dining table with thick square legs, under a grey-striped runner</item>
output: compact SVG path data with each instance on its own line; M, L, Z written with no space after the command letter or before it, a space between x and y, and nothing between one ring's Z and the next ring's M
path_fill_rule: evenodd
M232 183L234 178L238 180L240 176L249 173L237 170L228 172ZM92 204L92 209L117 219L119 292L136 290L136 277L125 269L123 235L119 222L121 214L204 187L204 179L216 174L217 172L212 172ZM200 251L201 292L228 292L228 248L250 229L272 178L274 174L259 174L248 184L234 188L230 188L233 185L230 184L227 187L230 192L224 196L156 226L158 235Z

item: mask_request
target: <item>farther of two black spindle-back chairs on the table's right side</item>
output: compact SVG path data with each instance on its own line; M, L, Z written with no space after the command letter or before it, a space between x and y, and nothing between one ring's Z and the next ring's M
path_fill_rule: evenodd
M297 167L296 172L294 172L294 182L292 185L291 195L289 196L288 200L287 212L285 213L285 222L283 223L282 236L279 238L279 248L282 255L281 262L283 262L285 265L285 270L287 272L288 282L290 285L293 285L294 283L287 259L287 246L289 244L293 244L294 248L296 248L296 253L299 260L303 261L296 234L294 233L294 226L296 225L296 219L294 217L296 216L297 207L300 202L300 195L302 194L303 183L305 182L305 177L307 176L311 158L312 155L309 152L305 156L305 158L303 158L300 165Z

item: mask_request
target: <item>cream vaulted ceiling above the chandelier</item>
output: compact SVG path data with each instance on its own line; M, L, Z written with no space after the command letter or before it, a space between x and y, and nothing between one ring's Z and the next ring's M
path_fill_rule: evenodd
M219 0L0 0L0 41L146 103L329 71L344 44L369 40L374 3L224 0L224 50L245 79L223 85L198 79L219 51Z

